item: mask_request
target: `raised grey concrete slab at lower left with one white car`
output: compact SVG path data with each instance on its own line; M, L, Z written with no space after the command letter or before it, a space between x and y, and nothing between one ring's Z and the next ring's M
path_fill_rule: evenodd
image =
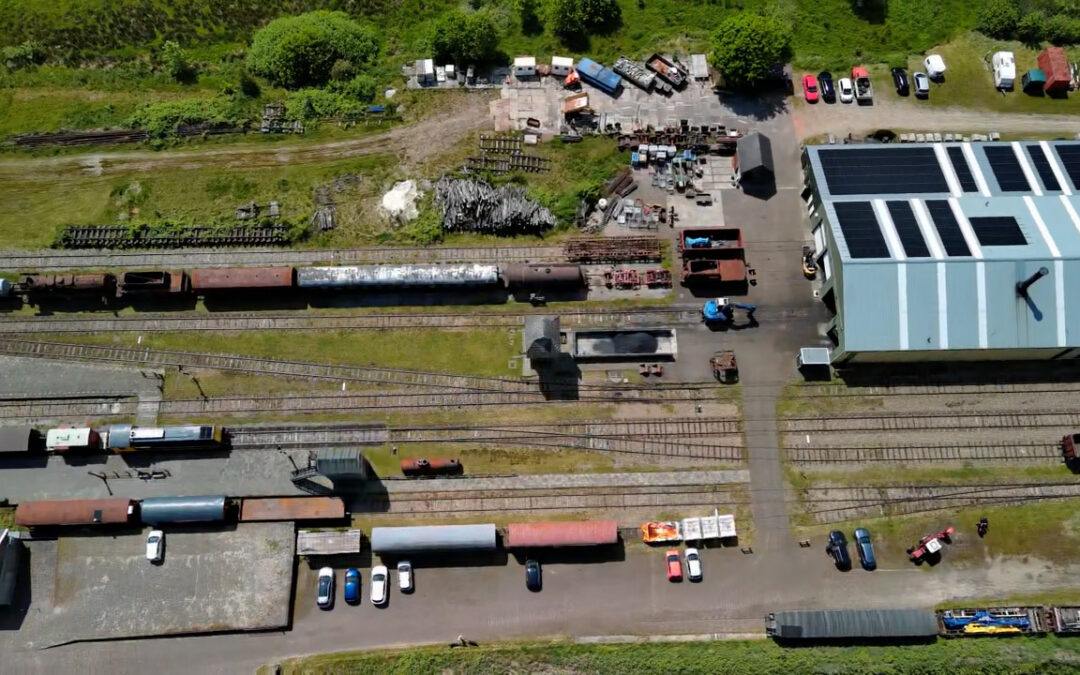
M146 559L145 531L27 548L30 597L23 599L32 602L16 634L25 648L289 623L292 523L166 530L161 565Z

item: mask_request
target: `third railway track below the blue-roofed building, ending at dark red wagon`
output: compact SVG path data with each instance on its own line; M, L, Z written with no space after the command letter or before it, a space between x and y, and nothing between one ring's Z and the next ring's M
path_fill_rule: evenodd
M867 447L787 447L788 461L797 464L859 462L959 462L1059 463L1055 443L966 443L963 445L890 445Z

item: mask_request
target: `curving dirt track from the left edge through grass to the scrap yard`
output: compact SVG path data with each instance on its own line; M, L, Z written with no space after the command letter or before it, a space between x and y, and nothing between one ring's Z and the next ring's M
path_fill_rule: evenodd
M450 148L462 136L491 124L486 95L462 95L447 110L396 126L381 134L347 140L287 146L248 145L154 152L109 152L51 158L0 160L0 178L54 179L58 174L92 175L132 172L214 168L253 168L281 164L305 164L367 154L396 154L403 162L421 163Z

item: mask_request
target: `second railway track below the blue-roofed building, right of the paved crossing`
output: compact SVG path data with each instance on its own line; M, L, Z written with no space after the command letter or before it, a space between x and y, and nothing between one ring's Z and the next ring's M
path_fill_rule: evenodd
M963 431L980 429L1036 429L1076 427L1080 413L922 413L865 414L829 417L786 417L780 420L783 432L889 432L889 431Z

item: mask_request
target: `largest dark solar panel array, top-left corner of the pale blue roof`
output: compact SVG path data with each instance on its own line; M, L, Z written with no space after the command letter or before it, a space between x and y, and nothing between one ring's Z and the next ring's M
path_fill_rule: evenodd
M948 192L933 148L828 148L818 157L833 194Z

